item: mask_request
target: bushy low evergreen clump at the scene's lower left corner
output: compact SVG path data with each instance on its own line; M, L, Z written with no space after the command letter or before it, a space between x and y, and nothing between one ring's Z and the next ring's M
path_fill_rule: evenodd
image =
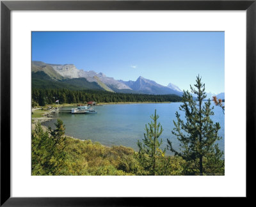
M48 132L44 132L38 122L32 133L33 175L61 175L65 171L65 126L61 119L55 125L55 130L49 127Z

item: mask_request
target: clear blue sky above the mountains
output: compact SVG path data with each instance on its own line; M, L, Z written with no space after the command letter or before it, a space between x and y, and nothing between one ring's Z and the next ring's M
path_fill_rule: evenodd
M224 32L33 32L32 60L74 64L117 80L139 76L180 89L202 76L224 92Z

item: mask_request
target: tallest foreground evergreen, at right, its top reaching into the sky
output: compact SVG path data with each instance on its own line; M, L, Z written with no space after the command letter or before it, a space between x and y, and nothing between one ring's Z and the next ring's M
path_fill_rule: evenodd
M203 104L203 100L206 98L205 95L205 84L202 84L199 75L196 77L195 88L190 86L191 93L197 95L197 99L194 100L193 96L188 92L184 91L182 96L183 104L180 105L180 111L185 112L186 121L180 118L180 114L176 112L177 121L173 121L175 128L173 128L172 134L174 134L180 141L180 150L173 149L172 142L168 141L168 148L175 155L179 155L184 158L190 165L193 165L192 169L196 173L196 169L199 169L200 175L205 173L203 169L203 161L214 160L216 164L221 160L223 152L218 149L216 141L220 140L218 131L220 130L219 123L213 123L211 120L212 109L211 100ZM196 163L198 160L199 164ZM198 165L198 167L196 167ZM205 166L207 167L207 166ZM197 171L198 171L197 169Z

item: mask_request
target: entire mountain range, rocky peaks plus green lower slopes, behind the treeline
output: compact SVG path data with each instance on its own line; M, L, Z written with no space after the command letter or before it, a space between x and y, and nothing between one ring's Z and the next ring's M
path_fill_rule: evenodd
M136 81L115 80L113 77L107 77L101 72L79 70L73 64L55 65L41 61L32 61L32 87L100 89L117 93L152 95L175 94L182 96L183 94L182 90L172 83L168 84L168 86L162 86L141 76ZM221 98L223 96L224 93L221 93Z

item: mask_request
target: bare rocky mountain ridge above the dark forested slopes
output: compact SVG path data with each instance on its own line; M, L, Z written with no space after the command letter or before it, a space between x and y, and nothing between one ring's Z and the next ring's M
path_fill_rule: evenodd
M41 61L32 61L32 73L36 72L46 73L52 81L64 81L75 84L76 86L83 84L83 86L81 86L82 88L90 86L90 88L101 88L111 92L144 93L152 95L175 94L182 96L183 94L182 90L172 83L168 84L168 86L162 86L142 76L138 77L136 81L115 80L113 77L108 77L102 72L97 73L93 70L79 70L74 64L56 65ZM38 78L38 74L36 77ZM92 84L90 84L90 82ZM58 83L56 82L55 84ZM207 98L212 98L212 95L212 93L207 93ZM221 95L221 99L224 99L222 98L223 96L224 93Z

